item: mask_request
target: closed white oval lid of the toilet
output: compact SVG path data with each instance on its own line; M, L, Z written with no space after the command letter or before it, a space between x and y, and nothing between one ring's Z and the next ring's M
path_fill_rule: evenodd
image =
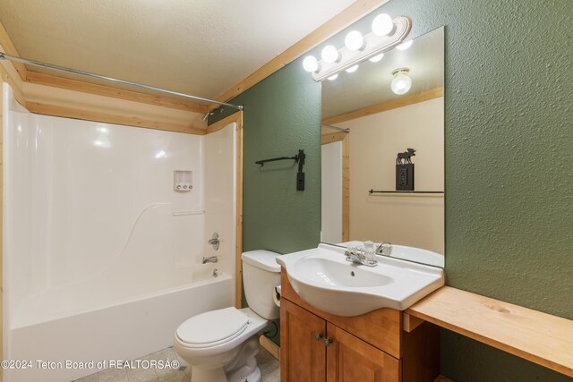
M177 337L194 347L224 344L243 333L249 318L236 308L211 310L189 318L177 328Z

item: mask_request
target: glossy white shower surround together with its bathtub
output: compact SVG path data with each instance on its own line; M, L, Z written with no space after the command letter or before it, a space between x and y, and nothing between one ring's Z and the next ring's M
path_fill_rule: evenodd
M137 358L233 304L234 123L204 136L92 123L30 114L11 93L4 83L4 358L33 363L6 382L81 378L98 370L37 360ZM175 170L192 171L192 191L174 191Z

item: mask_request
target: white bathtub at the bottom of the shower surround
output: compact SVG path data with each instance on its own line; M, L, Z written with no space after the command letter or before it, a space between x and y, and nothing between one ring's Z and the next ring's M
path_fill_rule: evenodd
M10 351L11 360L32 361L32 369L7 369L4 380L70 381L98 369L65 369L65 366L59 369L57 363L56 369L38 369L37 361L62 362L63 365L68 360L94 361L97 364L98 361L132 360L171 346L175 329L185 319L233 305L233 277L224 273L213 276L215 266L199 268L188 276L192 279L189 284L143 293L131 300L92 310L78 309L87 307L88 303L93 306L90 298L113 293L124 286L107 284L102 291L99 287L95 289L102 284L94 281L81 288L69 287L33 296L22 304L23 314L13 322ZM184 271L181 273L183 276ZM150 290L156 288L157 284L150 285ZM117 297L121 300L124 296ZM61 309L46 310L47 306ZM66 306L73 307L75 313L66 310Z

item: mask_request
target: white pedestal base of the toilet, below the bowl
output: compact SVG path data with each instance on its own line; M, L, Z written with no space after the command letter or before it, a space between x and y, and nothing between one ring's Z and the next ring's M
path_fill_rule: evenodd
M191 382L260 382L261 369L257 367L259 335L253 335L244 344L235 359L225 368L201 369L192 366Z

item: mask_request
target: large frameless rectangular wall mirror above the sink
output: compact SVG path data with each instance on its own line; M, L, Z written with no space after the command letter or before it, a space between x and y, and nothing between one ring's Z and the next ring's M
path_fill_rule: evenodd
M389 242L393 257L443 267L443 86L443 27L322 82L322 242Z

